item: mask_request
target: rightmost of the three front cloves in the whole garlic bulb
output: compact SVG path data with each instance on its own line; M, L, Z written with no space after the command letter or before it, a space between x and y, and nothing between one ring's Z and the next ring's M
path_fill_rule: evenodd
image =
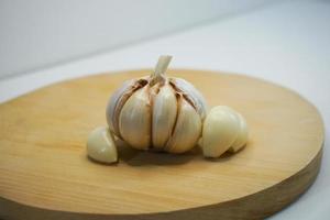
M197 144L201 133L201 119L198 112L182 96L178 106L177 122L165 147L169 153L189 151Z

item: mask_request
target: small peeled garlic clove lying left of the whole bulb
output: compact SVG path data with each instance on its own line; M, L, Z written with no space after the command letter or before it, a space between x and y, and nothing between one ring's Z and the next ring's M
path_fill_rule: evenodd
M98 162L118 162L118 153L113 136L110 134L108 128L97 128L89 134L87 140L87 154Z

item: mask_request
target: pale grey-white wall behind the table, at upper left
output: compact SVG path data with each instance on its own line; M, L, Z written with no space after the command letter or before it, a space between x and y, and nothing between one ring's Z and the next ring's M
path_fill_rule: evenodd
M161 36L264 2L1 0L0 77Z

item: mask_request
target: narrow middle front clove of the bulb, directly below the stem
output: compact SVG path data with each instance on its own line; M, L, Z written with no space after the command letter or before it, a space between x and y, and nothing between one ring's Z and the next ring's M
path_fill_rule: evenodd
M153 99L152 142L162 150L170 136L177 114L177 100L169 85L161 87Z

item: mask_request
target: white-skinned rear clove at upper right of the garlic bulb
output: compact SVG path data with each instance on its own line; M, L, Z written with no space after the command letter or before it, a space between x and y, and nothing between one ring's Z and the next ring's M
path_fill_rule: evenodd
M173 85L179 89L196 107L197 112L200 114L201 120L205 119L207 113L207 102L204 96L195 88L195 86L182 78L172 78Z

